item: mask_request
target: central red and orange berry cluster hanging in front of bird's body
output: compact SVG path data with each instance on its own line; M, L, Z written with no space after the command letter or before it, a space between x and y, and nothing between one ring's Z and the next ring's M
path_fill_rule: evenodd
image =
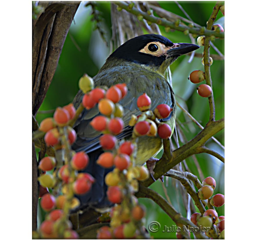
M107 196L111 203L115 203L110 217L110 227L104 226L99 229L97 238L131 238L143 236L141 231L141 219L145 215L145 210L138 205L138 200L134 193L138 191L138 181L145 181L149 177L149 172L144 166L136 166L136 138L140 136L157 136L168 139L171 136L169 125L159 122L158 119L167 118L172 109L166 104L160 104L150 111L151 100L146 93L138 97L137 106L142 112L140 116L133 115L129 122L134 126L131 141L122 140L119 142L116 135L124 129L123 108L118 102L126 95L126 84L116 84L109 89L97 87L93 89L93 82L88 76L83 76L79 81L79 86L85 86L85 95L82 103L86 109L98 107L101 115L96 116L90 122L93 129L101 131L103 135L99 143L105 150L97 164L105 168L115 167L105 177L108 186ZM104 220L102 220L104 219ZM99 221L106 221L102 216Z

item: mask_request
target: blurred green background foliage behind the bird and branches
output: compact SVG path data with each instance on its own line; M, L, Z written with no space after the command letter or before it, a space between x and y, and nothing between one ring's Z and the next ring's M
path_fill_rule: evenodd
M109 41L111 38L110 3L100 3L99 11L102 12L102 17L104 18L103 26L106 31L107 41ZM216 4L215 1L180 1L179 3L193 19L193 21L201 26L206 26L206 22L211 15L214 5ZM186 17L173 1L159 1L159 4L162 8L168 11L182 17ZM90 15L91 12L91 6L85 7L84 2L80 4L74 17L75 24L73 21L63 46L56 73L39 111L55 109L58 106L62 107L72 102L74 96L79 90L79 78L83 75L83 73L87 73L91 77L95 76L108 57L110 49L106 47L106 44L101 39L98 30L93 31L93 29L95 29L95 23L90 20L92 18ZM216 21L220 21L224 25L224 17L221 12L218 13ZM162 35L166 36L173 42L191 42L189 36L185 36L182 32L174 31L166 33L162 26L160 26L160 30ZM223 54L224 41L224 39L215 39L214 41L214 45ZM202 52L203 47L197 50L197 53ZM210 54L216 54L216 52L210 48ZM201 58L195 57L190 64L188 63L188 59L189 56L181 56L170 66L175 97L182 106L188 109L191 115L197 119L202 126L205 126L209 120L208 99L202 98L197 94L196 87L200 84L192 84L188 80L191 71L196 69L204 71L204 66L201 63ZM214 61L211 66L211 79L213 82L216 120L218 120L224 117L224 61ZM180 123L183 123L184 134L187 140L191 140L198 132L200 132L200 129L197 125L192 123L179 108L177 109L177 118ZM53 116L53 113L42 114L39 112L36 119L40 124L42 119L50 116ZM216 134L215 137L224 145L224 130ZM182 145L181 142L179 144ZM206 143L206 146L224 156L223 149L213 140L209 140ZM224 164L220 160L208 154L199 154L196 156L196 158L198 159L204 177L212 176L215 178L217 187L214 190L214 194L225 194ZM191 172L199 177L198 170L192 157L186 159L186 164ZM201 182L202 180L203 179L200 179ZM160 181L156 181L150 186L150 188L159 192L159 194L165 197ZM175 209L186 217L186 210L182 203L182 197L179 195L176 181L174 181L174 179L169 178L167 192ZM158 205L153 203L152 200L139 199L139 201L148 209L145 227L147 228L147 225L151 221L158 221L161 224L160 231L150 234L154 236L155 239L176 238L175 233L173 232L162 232L165 225L168 227L174 225L170 217L168 217ZM225 215L225 205L216 210L219 216Z

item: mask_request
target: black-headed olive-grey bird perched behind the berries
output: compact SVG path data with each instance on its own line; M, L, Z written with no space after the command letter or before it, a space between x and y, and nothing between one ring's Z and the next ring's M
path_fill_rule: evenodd
M151 110L159 104L167 104L173 110L161 121L167 123L172 132L175 128L176 102L172 87L164 78L168 66L179 56L198 49L199 46L189 43L173 43L168 38L157 34L145 34L129 39L117 48L107 59L105 64L93 77L95 86L113 86L118 83L127 85L127 94L119 102L124 108L124 131L116 136L117 139L131 138L133 127L129 126L131 115L141 114L137 107L137 99L143 93L151 98ZM83 92L79 90L73 104L77 108L82 101ZM96 182L90 192L78 196L81 206L104 207L109 205L106 197L107 186L104 177L112 169L104 169L96 163L103 152L99 145L101 132L94 130L90 121L99 115L97 105L90 110L84 109L74 124L77 140L72 145L75 151L85 151L89 158L89 165L83 172L90 173ZM142 165L154 157L163 148L162 139L151 136L141 136L137 141L136 164Z

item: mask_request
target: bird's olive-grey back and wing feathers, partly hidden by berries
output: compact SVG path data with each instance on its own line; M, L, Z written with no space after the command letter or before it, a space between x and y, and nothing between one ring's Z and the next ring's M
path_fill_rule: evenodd
M167 104L172 106L171 87L163 76L158 73L150 72L144 68L138 68L135 66L118 66L109 68L105 71L98 73L93 77L95 86L112 86L118 83L126 83L128 92L126 96L119 102L124 108L124 131L116 136L118 139L122 139L127 136L131 136L133 127L129 126L131 114L136 116L141 114L141 111L137 107L137 99L143 93L151 98L151 110L154 110L159 104ZM74 98L74 105L77 108L81 103L83 93L81 90ZM87 153L94 151L100 147L99 137L102 134L99 131L94 130L89 124L90 121L97 115L99 115L97 105L90 110L84 109L81 113L81 117L74 124L74 128L77 131L77 140L72 146L76 151L86 151ZM169 120L171 115L164 119Z

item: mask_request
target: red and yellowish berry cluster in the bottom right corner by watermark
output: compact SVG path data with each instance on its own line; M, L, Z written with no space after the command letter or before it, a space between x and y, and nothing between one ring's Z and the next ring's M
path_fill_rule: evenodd
M212 177L207 177L202 182L202 187L198 190L198 197L201 199L204 206L221 207L225 203L225 196L223 194L216 194L212 196L213 190L216 187L216 181ZM212 196L212 197L211 197ZM190 217L191 222L202 227L214 228L219 235L219 239L225 239L225 217L219 216L214 209L208 209L204 214L195 212ZM212 237L210 231L205 232L207 237Z

